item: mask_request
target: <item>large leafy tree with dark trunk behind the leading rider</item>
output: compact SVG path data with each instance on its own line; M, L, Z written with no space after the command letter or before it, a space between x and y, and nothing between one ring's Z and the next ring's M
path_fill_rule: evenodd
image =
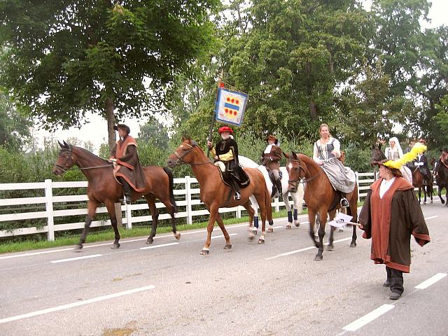
M46 127L99 113L112 146L116 118L163 111L166 85L213 41L209 18L219 4L1 1L0 84Z

